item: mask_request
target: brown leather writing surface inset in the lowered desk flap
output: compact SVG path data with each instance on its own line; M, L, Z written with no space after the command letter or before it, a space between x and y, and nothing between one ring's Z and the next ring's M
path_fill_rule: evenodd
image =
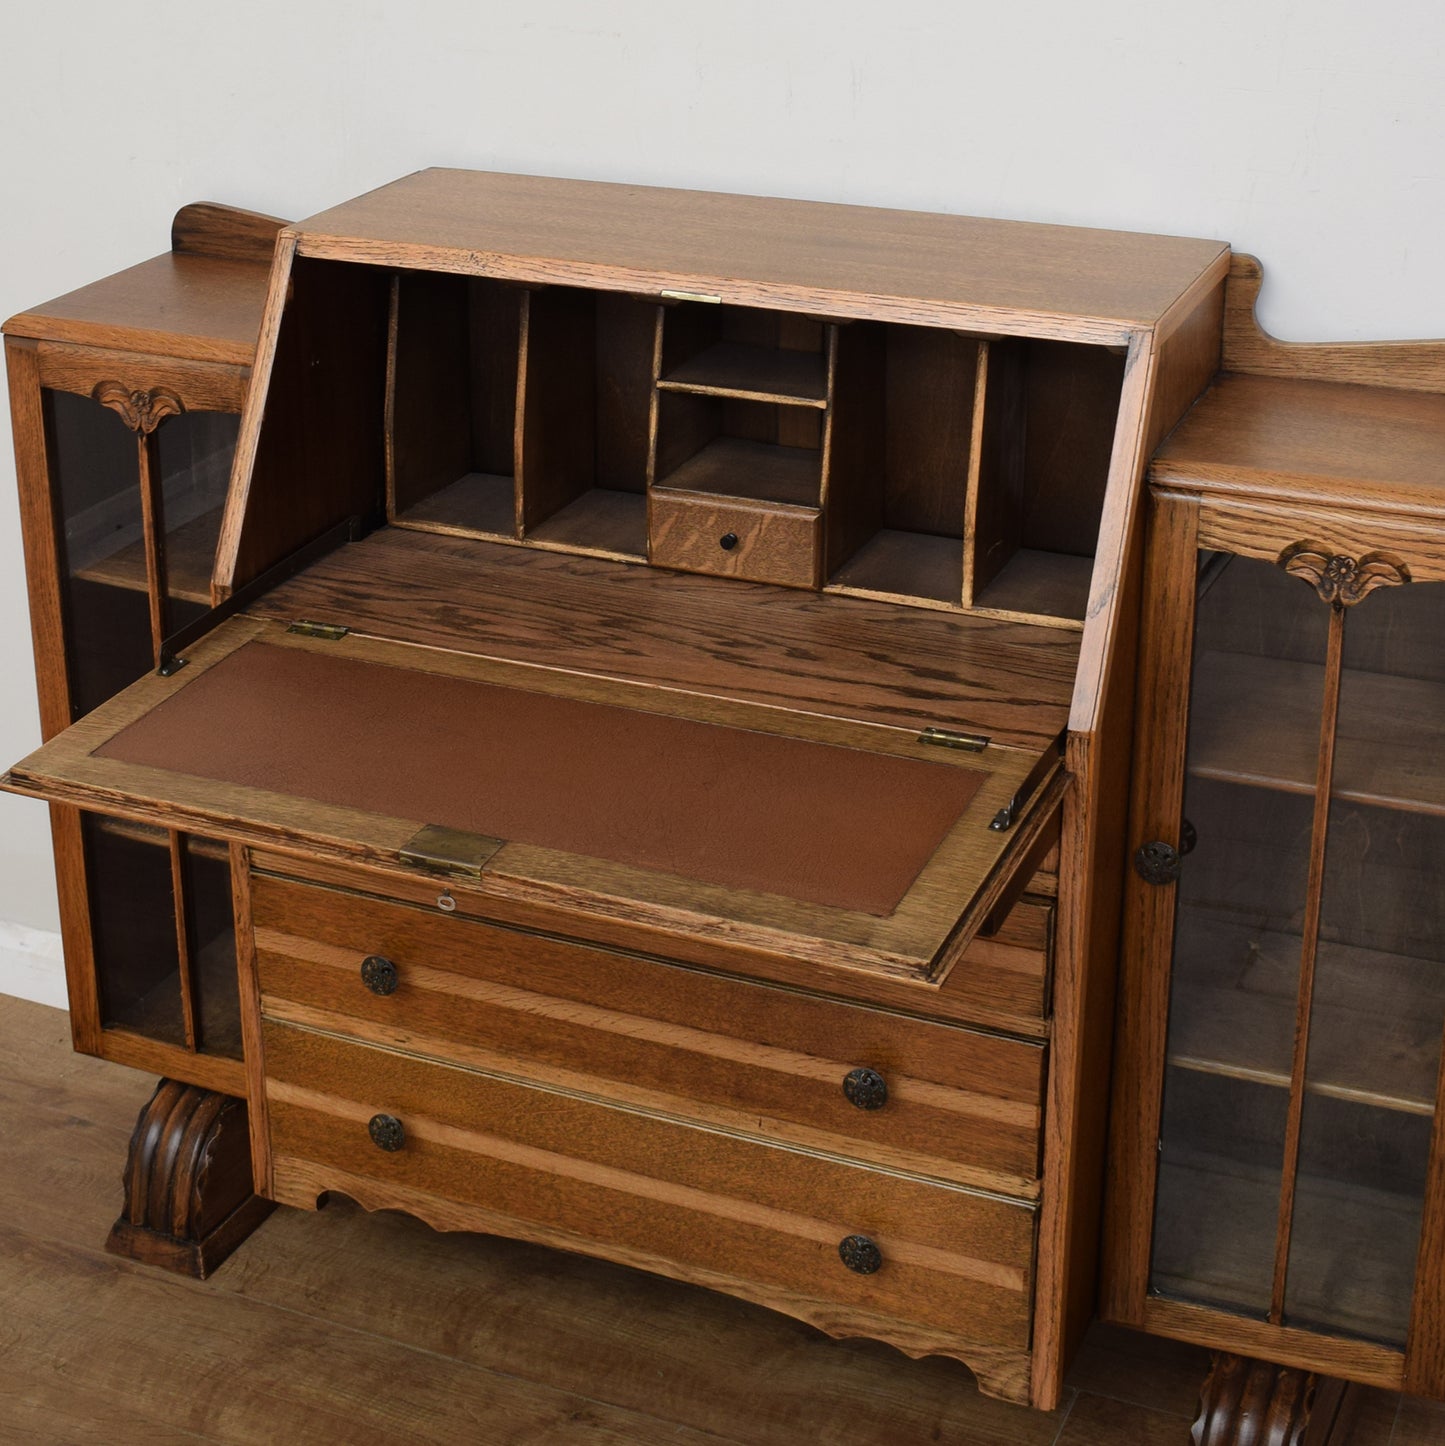
M879 915L986 777L266 643L95 752Z

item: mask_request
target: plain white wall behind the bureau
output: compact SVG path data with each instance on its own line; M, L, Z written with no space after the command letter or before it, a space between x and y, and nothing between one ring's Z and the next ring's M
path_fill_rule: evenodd
M0 56L0 315L185 201L302 217L463 165L1221 237L1282 335L1445 335L1439 0L72 0L9 4ZM0 457L7 763L38 730ZM0 921L55 927L25 800Z

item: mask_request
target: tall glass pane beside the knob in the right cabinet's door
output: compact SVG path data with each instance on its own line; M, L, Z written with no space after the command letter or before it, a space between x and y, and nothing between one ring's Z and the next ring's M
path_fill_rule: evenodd
M1195 620L1151 1288L1266 1316L1274 1274L1329 610L1205 557Z

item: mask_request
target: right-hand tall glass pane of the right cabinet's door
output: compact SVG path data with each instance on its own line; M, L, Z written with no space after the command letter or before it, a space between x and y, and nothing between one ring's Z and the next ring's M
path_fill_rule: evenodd
M1286 1317L1403 1345L1445 1030L1445 587L1345 615Z

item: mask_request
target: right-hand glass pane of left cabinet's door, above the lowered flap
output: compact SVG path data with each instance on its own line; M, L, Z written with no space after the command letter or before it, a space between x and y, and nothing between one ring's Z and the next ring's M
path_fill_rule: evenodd
M156 429L165 515L166 633L211 606L211 567L240 418L184 412Z

